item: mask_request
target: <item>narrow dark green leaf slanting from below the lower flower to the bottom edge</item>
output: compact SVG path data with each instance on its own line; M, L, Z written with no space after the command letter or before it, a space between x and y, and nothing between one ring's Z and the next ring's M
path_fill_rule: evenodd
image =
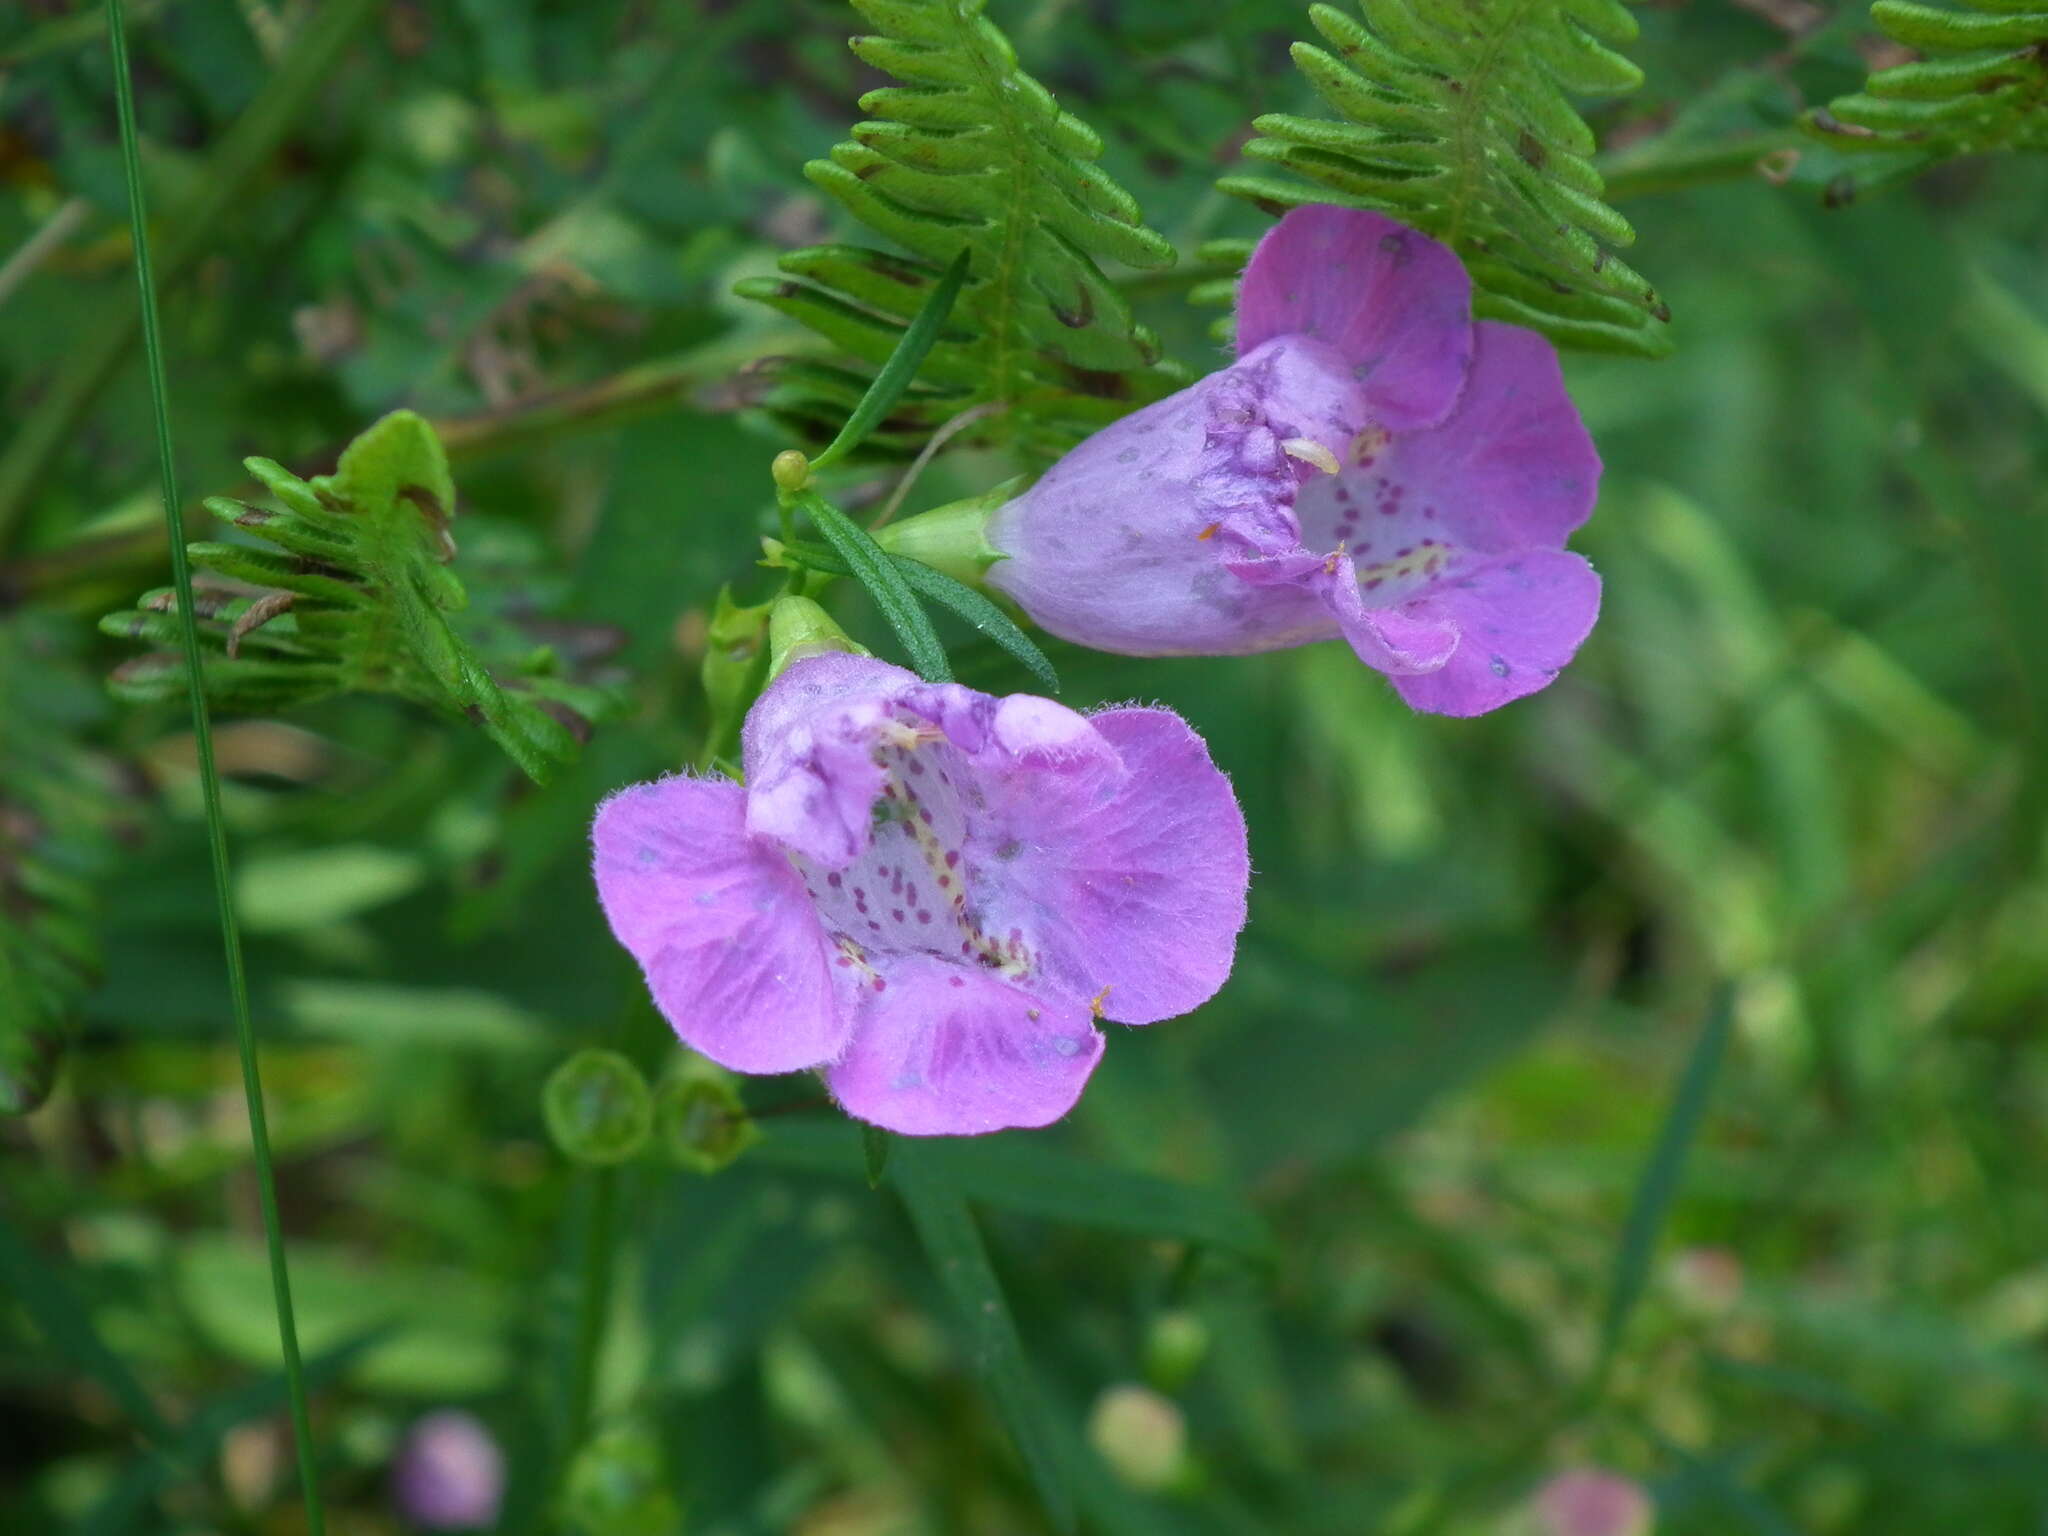
M1010 1438L1024 1460L1044 1501L1047 1518L1057 1530L1073 1530L1073 1489L1059 1454L1059 1430L1030 1376L1024 1343L1010 1300L1004 1296L981 1229L944 1178L928 1147L903 1147L895 1157L895 1184L903 1194L918 1241L946 1296L952 1300L967 1358L989 1389L995 1411L1010 1427Z

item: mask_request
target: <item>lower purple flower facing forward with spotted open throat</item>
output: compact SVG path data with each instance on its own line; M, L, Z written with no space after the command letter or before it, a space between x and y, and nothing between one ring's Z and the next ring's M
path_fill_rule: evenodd
M664 778L598 811L598 899L682 1040L823 1067L905 1135L1057 1120L1096 1018L1214 995L1245 823L1163 709L1081 717L864 655L793 664L748 715L748 784Z

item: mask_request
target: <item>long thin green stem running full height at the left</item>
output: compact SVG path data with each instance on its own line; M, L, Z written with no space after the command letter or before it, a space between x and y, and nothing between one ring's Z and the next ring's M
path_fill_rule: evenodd
M156 272L150 264L150 215L141 193L141 152L135 135L135 86L129 76L127 23L121 0L106 4L106 43L113 51L115 106L121 115L121 168L127 178L129 227L135 238L135 293L141 324L143 365L150 375L150 408L156 418L156 459L162 471L164 520L170 537L170 580L178 590L178 627L184 641L184 676L193 692L193 748L199 758L199 788L207 807L207 852L213 860L213 897L221 913L221 952L227 961L227 993L236 1016L236 1047L242 1055L242 1092L250 1112L250 1141L256 1151L256 1194L262 1204L264 1241L270 1249L270 1292L276 1303L276 1331L285 1350L285 1382L291 1393L291 1427L299 1444L299 1483L305 1491L305 1528L324 1536L319 1477L313 1460L313 1427L305 1407L305 1366L299 1360L299 1329L291 1313L291 1274L285 1268L285 1235L276 1210L276 1171L270 1165L270 1126L262 1108L262 1077L256 1069L256 1026L250 1020L248 973L242 965L242 930L236 926L233 889L227 877L227 829L221 819L221 776L213 762L213 725L199 668L199 614L193 606L193 565L184 553L184 518L178 512L178 467L172 457L170 406L164 383L164 340L156 313Z

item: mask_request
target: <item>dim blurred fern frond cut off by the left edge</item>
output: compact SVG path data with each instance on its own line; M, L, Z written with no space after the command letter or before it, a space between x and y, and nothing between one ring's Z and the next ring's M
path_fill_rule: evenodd
M0 1114L49 1094L100 973L98 891L133 807L119 768L78 741L94 702L53 627L0 621Z

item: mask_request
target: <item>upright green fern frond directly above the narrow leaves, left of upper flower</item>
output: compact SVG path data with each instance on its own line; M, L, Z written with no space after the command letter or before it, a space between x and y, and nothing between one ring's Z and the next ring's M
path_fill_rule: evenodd
M1094 164L1094 131L1018 68L985 0L852 4L877 29L854 53L903 84L862 96L868 121L805 174L909 256L813 246L782 256L780 279L739 285L854 362L782 367L768 410L829 438L963 250L967 287L870 449L913 453L993 403L977 438L1051 459L1184 383L1100 266L1169 266L1174 246Z

